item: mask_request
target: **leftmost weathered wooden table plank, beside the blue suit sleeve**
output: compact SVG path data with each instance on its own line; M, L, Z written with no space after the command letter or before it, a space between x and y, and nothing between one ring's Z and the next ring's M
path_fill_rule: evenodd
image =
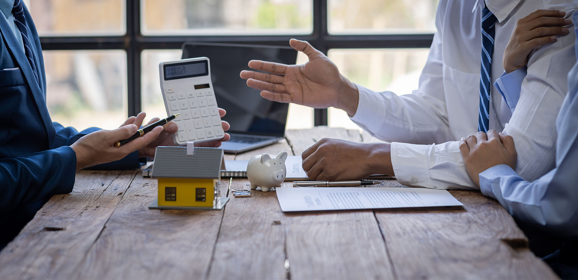
M0 253L0 279L72 278L136 171L80 171Z

